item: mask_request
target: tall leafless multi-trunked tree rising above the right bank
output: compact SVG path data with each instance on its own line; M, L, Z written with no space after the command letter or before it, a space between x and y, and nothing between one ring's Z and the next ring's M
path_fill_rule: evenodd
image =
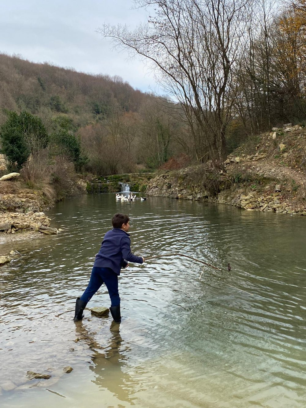
M155 15L135 31L104 24L98 30L115 47L153 62L167 92L181 104L216 163L226 155L226 127L231 120L233 67L244 31L245 0L138 0ZM194 126L196 124L196 126ZM196 132L195 132L196 129ZM201 159L203 157L199 157Z

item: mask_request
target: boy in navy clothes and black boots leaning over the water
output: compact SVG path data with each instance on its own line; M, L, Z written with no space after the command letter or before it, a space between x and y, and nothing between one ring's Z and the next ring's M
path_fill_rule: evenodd
M95 263L85 292L75 302L75 316L73 321L78 322L84 317L83 310L91 297L100 286L105 283L111 298L109 308L115 322L121 321L120 297L118 293L118 275L120 269L129 266L128 261L142 264L144 257L131 253L131 239L128 234L130 219L127 215L117 213L111 219L113 229L108 231L101 244L100 251L95 256Z

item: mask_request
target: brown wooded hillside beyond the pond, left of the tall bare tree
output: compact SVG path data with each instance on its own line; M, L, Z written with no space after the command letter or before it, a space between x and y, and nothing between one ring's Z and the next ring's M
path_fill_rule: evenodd
M188 154L189 135L169 113L173 106L117 76L0 54L0 126L8 111L27 111L42 119L49 134L69 131L89 158L86 172L155 169L171 155Z

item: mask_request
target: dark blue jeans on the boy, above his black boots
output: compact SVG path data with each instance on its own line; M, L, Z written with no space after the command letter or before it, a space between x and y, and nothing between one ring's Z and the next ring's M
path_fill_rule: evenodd
M89 284L85 292L81 296L83 302L89 302L91 297L99 290L100 286L105 283L111 298L111 306L118 306L120 304L120 297L118 292L118 275L111 268L93 267Z

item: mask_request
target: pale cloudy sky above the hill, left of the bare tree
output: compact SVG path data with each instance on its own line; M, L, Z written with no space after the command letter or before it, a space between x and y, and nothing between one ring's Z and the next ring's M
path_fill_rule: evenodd
M95 32L102 24L145 22L131 0L11 0L1 2L0 52L21 54L77 71L120 75L133 88L157 91L153 74L140 60L112 50Z

